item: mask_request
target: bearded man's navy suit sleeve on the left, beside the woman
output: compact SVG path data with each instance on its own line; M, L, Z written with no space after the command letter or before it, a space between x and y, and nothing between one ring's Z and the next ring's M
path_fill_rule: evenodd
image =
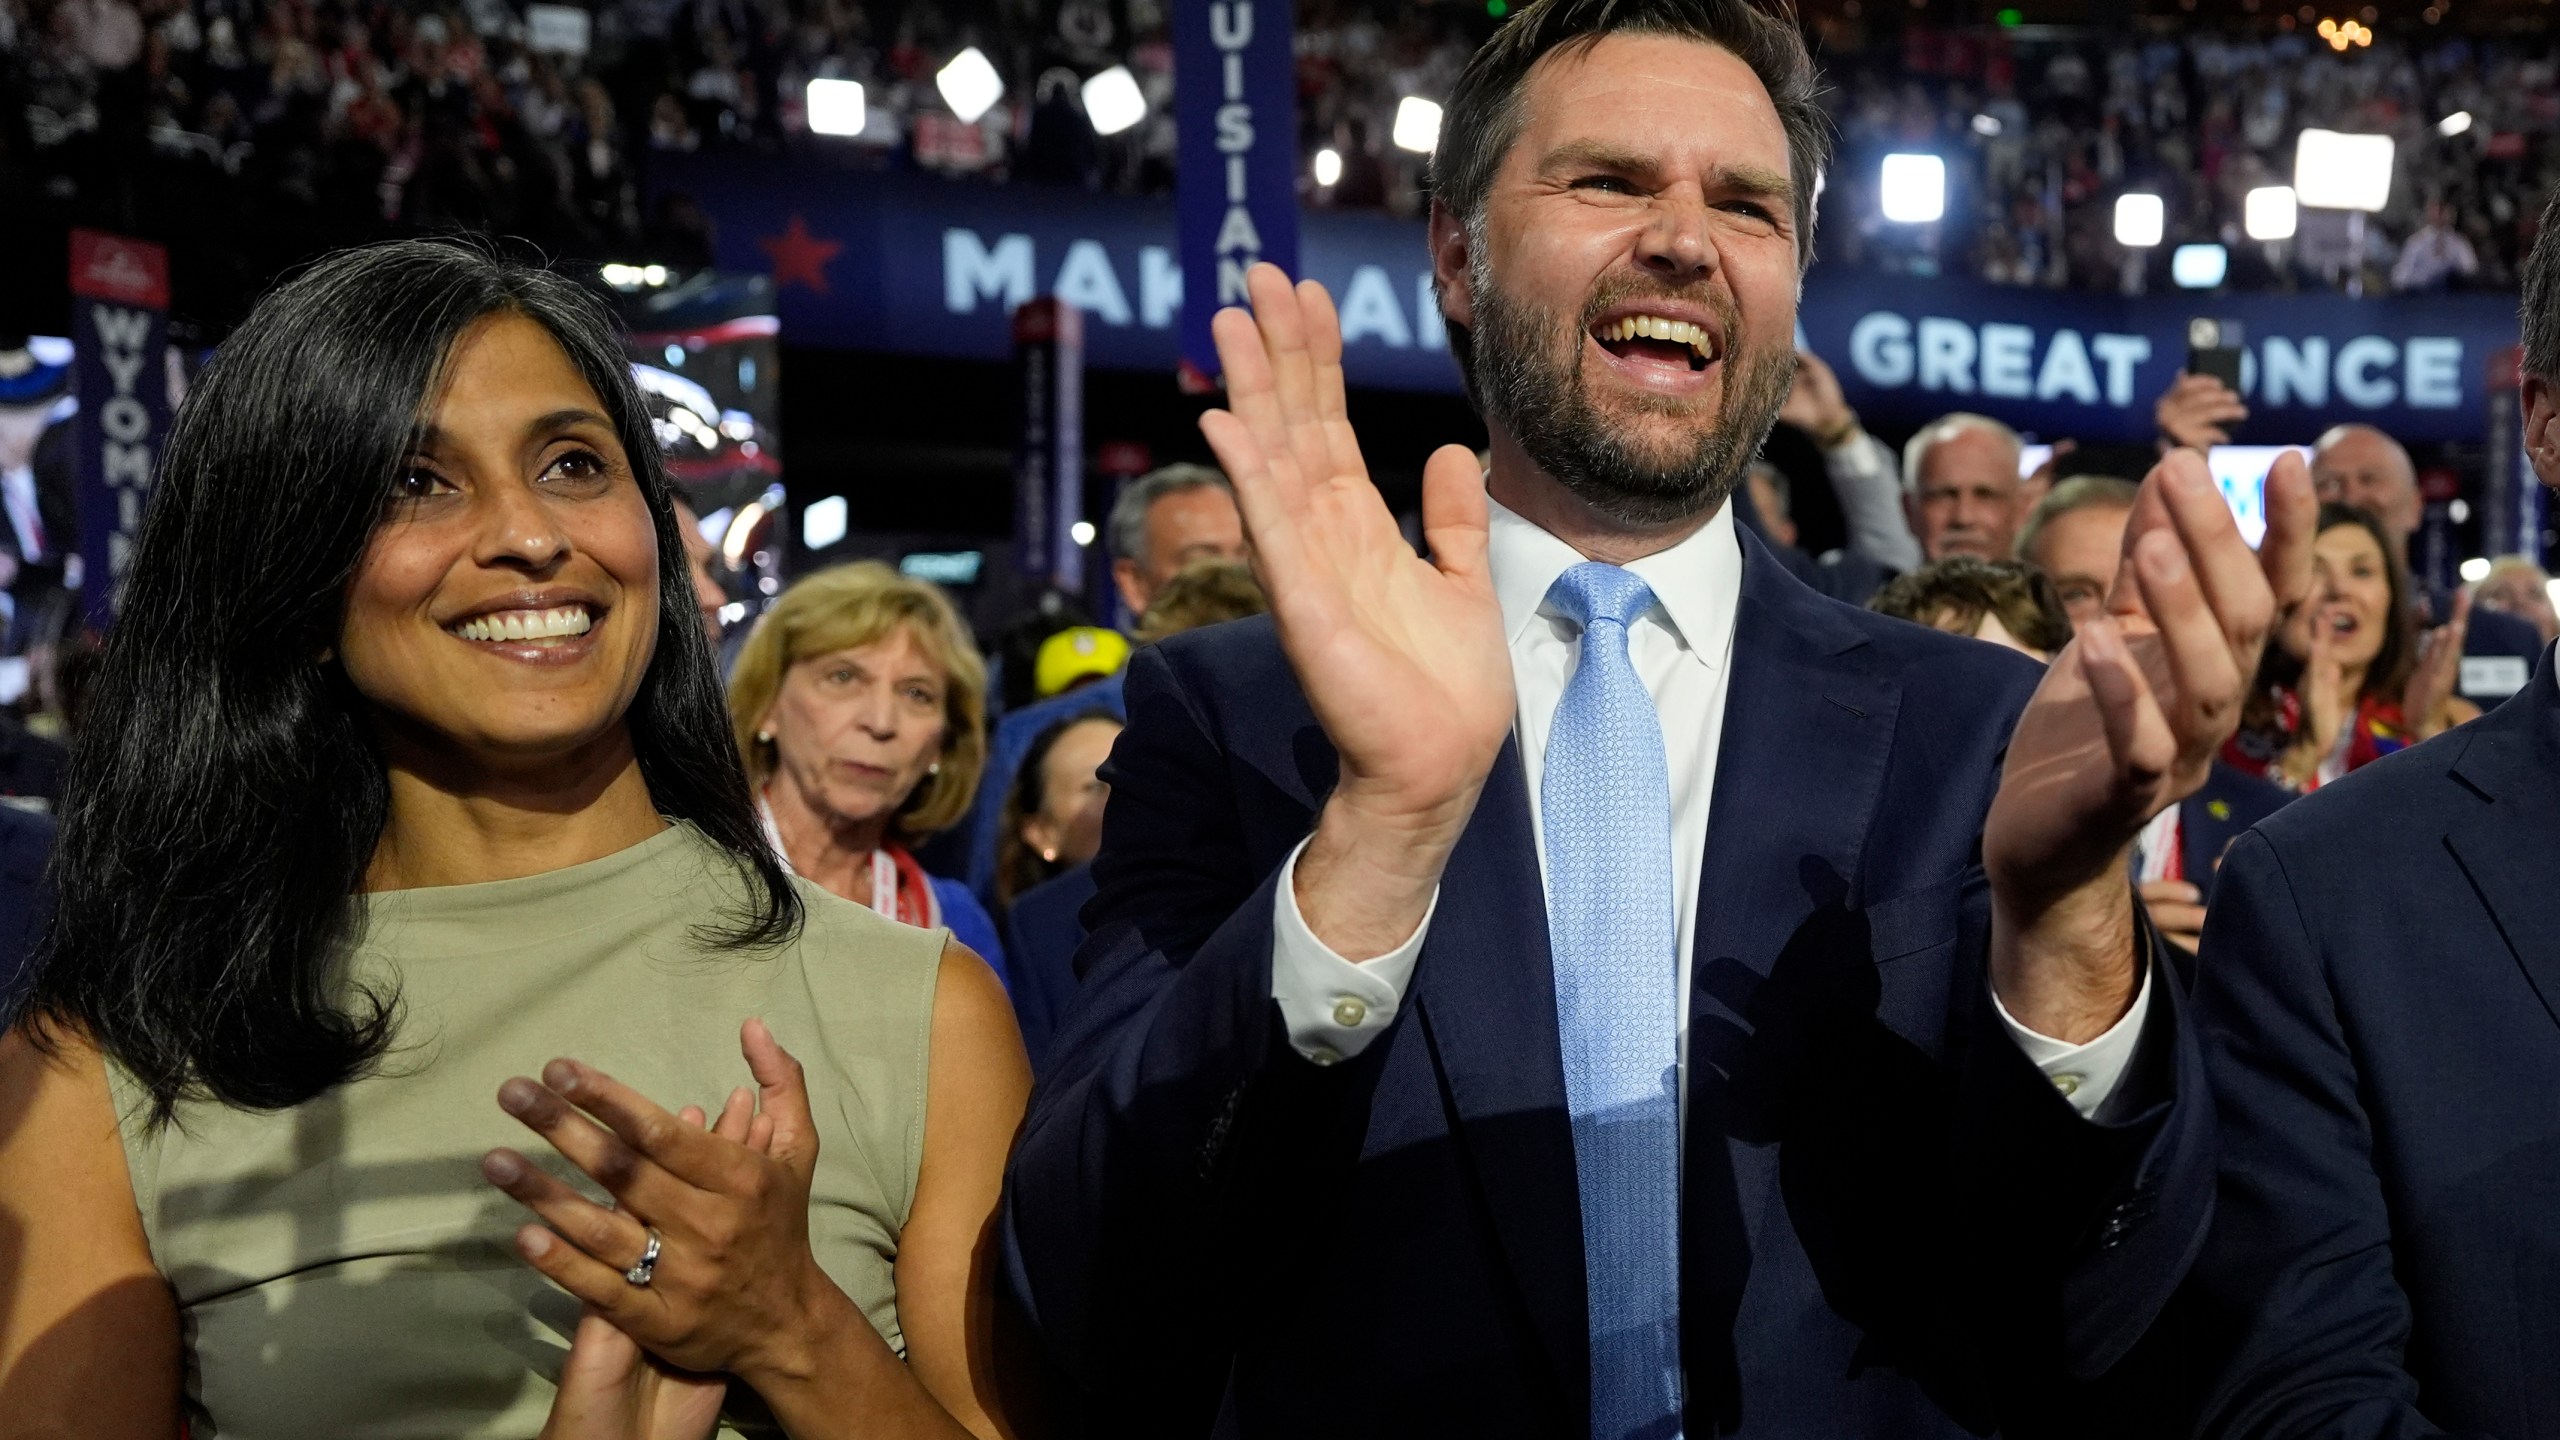
M1357 1161L1375 1063L1318 1068L1288 1045L1288 851L1249 851L1231 761L1157 648L1129 666L1103 776L1083 989L1009 1166L1006 1266L1078 1389L1206 1430L1239 1317L1306 1230L1283 1217L1339 1194Z

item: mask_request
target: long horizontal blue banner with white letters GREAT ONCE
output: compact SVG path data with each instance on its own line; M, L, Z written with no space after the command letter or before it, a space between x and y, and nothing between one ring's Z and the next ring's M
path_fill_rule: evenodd
M655 164L717 218L722 266L776 272L791 343L1001 361L1014 305L1057 295L1085 315L1088 364L1175 366L1188 277L1162 200L812 177L735 156ZM1303 274L1341 307L1352 384L1454 392L1423 225L1336 210L1303 225ZM2127 300L1820 264L1797 323L1879 430L1979 410L2043 438L2148 441L2194 315L2243 328L2245 443L2309 441L2342 420L2404 441L2481 441L2488 364L2516 343L2509 295Z

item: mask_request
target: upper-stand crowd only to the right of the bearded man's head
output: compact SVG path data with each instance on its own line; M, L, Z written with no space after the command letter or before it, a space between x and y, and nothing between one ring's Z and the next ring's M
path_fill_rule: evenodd
M1907 31L1900 49L1828 56L1841 164L1825 256L1994 284L2115 290L2115 197L2158 192L2163 264L2181 241L2232 246L2253 287L2511 290L2540 195L2560 177L2552 36L2417 31L2342 54L2294 15L2281 31L2194 28L2150 41L2028 41ZM2442 133L2450 115L2468 115ZM2304 210L2284 246L2245 236L2243 197L2291 184L2301 128L2388 133L2391 208L2350 254L2342 210ZM1876 161L1951 161L1943 225L1892 225Z

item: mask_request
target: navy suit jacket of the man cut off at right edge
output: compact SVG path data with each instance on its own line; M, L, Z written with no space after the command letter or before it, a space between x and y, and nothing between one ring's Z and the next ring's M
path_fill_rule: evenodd
M2547 659L2232 846L2194 994L2204 1435L2560 1435L2555 853Z

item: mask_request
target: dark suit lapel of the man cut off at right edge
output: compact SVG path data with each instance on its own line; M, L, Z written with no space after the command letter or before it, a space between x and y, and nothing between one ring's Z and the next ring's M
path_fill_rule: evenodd
M2460 740L2452 779L2488 805L2447 828L2445 846L2560 1022L2560 887L2550 876L2550 817L2560 815L2560 687L2537 674Z

